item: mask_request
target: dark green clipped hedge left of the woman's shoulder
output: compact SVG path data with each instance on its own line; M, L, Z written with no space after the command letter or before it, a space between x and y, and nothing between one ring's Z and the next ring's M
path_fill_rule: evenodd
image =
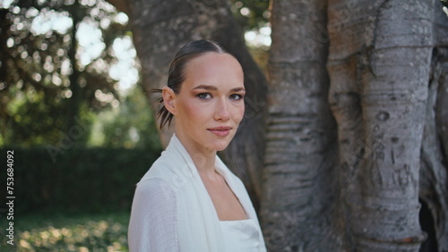
M16 148L14 213L130 209L135 184L159 153L159 149L69 148L53 162L45 148Z

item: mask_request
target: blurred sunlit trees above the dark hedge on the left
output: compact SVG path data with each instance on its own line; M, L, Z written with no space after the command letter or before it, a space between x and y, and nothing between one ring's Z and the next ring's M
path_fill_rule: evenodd
M157 146L126 25L101 0L0 4L0 146L57 145L82 122L80 147Z

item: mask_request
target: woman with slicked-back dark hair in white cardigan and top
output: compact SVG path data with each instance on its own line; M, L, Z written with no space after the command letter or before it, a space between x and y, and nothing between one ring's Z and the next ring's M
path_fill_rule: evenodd
M190 42L159 91L160 128L175 118L175 134L137 184L130 251L266 251L243 183L216 155L245 112L237 59L215 42Z

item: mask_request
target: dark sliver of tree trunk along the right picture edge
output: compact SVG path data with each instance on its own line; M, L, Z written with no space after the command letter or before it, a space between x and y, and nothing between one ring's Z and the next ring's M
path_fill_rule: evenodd
M448 251L448 177L447 155L444 153L448 143L448 18L442 12L441 4L434 2L435 48L428 85L419 189L423 206L427 207L426 212L420 213L420 223L428 239L420 251Z

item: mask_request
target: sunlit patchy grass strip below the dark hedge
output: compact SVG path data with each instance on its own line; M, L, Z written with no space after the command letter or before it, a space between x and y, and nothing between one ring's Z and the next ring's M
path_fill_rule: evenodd
M2 235L0 251L128 251L129 213L32 214L14 219L15 245L6 244Z

